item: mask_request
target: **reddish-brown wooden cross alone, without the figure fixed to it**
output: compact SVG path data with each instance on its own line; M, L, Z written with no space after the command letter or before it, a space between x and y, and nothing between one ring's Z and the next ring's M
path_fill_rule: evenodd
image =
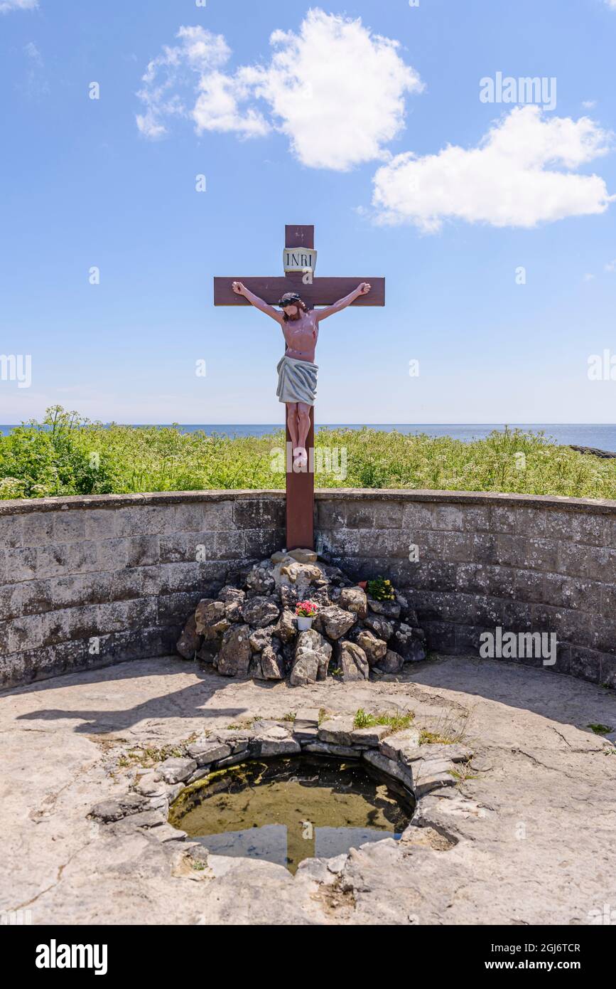
M302 248L314 249L314 226L284 227L284 247L296 248L290 260L302 271L287 271L282 278L214 278L214 306L250 306L248 299L238 296L232 289L233 282L243 282L270 306L276 306L285 292L297 292L309 308L333 306L349 295L361 282L369 282L371 292L359 296L352 306L384 306L384 278L313 278L312 270L302 264ZM318 362L318 359L317 359ZM286 421L286 549L312 549L314 547L314 407L310 410L310 432L306 443L308 465L302 471L294 471L288 451L291 434ZM312 469L311 469L312 468Z

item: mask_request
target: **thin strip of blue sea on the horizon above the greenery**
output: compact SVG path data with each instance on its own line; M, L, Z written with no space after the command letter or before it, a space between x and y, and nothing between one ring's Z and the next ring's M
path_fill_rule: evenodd
M134 425L147 425L148 423L134 423ZM157 423L158 425L171 425L171 423ZM456 422L456 423L393 423L393 422L336 422L322 423L317 426L319 429L361 429L367 426L369 429L380 429L391 432L394 429L401 433L424 433L427 436L450 436L452 439L471 442L475 439L485 439L495 429L505 428L500 422ZM14 425L0 425L0 433L7 435L14 429ZM276 429L281 428L279 422L267 422L261 424L242 423L183 423L179 425L183 432L197 432L202 430L207 435L218 434L220 436L265 436ZM590 446L598 450L616 452L616 424L607 423L554 423L554 422L532 422L532 423L508 423L509 429L523 429L526 432L543 433L551 442L560 443L564 446Z

